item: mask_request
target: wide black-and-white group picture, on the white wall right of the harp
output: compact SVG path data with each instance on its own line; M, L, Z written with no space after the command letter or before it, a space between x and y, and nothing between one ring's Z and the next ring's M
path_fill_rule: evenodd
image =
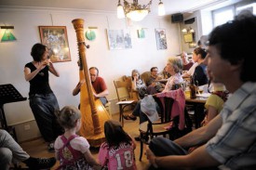
M132 48L128 30L107 30L109 49Z

